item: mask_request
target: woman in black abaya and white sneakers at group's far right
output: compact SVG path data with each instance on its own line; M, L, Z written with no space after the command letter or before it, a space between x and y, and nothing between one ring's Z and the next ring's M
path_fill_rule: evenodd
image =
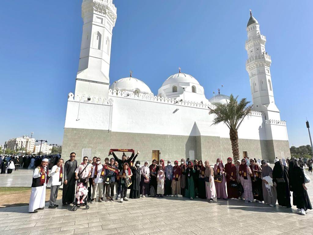
M297 161L291 159L289 161L289 186L290 191L293 191L293 205L297 206L298 212L305 215L307 209L312 210L310 198L305 186L305 176L303 169L298 166Z

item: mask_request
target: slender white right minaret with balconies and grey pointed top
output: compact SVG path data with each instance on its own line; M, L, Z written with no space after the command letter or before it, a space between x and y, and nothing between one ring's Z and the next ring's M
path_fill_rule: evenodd
M248 40L245 48L248 52L246 70L250 77L250 86L254 110L265 113L265 119L280 120L280 112L275 105L273 85L270 73L271 57L265 50L266 38L260 33L260 25L252 16L247 24Z

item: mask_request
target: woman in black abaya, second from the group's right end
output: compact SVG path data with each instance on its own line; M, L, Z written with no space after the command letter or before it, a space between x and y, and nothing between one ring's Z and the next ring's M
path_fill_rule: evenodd
M275 162L273 182L276 185L278 205L290 208L288 168L280 160Z

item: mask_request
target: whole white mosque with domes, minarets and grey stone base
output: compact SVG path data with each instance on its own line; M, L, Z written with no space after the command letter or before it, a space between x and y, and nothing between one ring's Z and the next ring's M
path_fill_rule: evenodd
M209 159L232 156L229 129L212 125L208 107L227 102L222 94L207 99L204 88L179 70L153 94L130 73L109 79L112 30L116 21L112 0L83 0L84 20L75 93L69 93L62 154L105 158L110 148L139 149L139 160ZM275 105L266 38L250 13L247 24L249 74L254 111L239 128L240 157L290 157L286 122ZM247 79L248 80L248 79Z

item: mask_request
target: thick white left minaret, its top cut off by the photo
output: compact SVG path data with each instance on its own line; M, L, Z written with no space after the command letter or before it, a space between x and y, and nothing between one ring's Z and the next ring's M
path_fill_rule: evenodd
M112 29L116 7L112 0L83 0L84 20L76 95L108 98Z

